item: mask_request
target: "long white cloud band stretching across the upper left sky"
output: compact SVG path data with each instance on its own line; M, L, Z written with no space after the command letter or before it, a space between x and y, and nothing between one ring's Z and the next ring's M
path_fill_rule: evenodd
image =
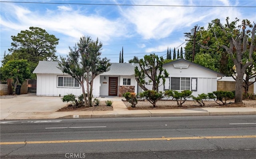
M72 8L65 6L58 6L58 12L47 9L43 13L15 5L10 5L9 8L13 12L8 13L10 20L1 18L3 28L24 30L30 26L38 26L74 38L88 35L93 38L98 37L100 40L122 36L126 30L119 20L108 20L97 15L82 15L79 11L72 11Z

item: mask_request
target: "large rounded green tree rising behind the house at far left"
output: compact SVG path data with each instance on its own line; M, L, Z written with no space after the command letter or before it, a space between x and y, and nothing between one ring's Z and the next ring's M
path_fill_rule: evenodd
M22 30L11 38L12 48L8 49L10 54L4 55L2 64L6 64L9 60L28 60L30 71L33 72L40 60L57 60L55 53L59 39L42 28L30 27L29 30Z

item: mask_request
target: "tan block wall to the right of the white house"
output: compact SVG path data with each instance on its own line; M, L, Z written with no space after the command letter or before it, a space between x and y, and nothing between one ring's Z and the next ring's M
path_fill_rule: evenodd
M217 85L218 85L217 86L218 91L234 91L234 90L236 90L236 82L235 81L218 81ZM253 84L249 86L248 93L253 94Z

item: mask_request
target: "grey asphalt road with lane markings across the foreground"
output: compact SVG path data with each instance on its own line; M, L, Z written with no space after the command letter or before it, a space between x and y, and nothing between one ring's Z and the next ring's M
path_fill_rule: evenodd
M26 159L256 156L256 115L1 121L0 157Z

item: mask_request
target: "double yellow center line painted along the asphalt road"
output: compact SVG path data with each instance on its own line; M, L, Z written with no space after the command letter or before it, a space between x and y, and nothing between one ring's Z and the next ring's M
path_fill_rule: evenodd
M256 138L256 135L246 136L202 136L202 137L159 137L159 138L135 138L135 139L90 139L90 140L57 140L57 141L22 141L0 142L0 145L32 144L32 143L79 143L79 142L112 142L112 141L152 141L152 140L184 140L184 139L230 139L230 138Z

